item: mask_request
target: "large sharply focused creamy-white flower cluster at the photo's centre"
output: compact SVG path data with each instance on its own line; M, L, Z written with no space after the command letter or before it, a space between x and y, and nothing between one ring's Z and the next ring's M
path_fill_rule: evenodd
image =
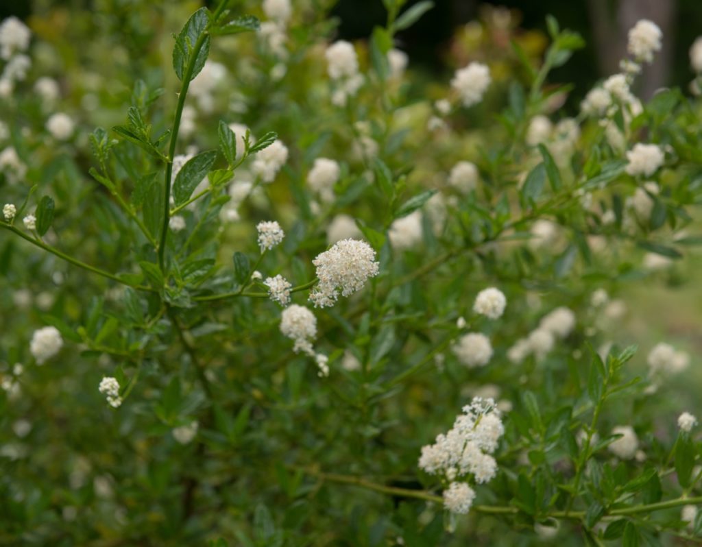
M336 303L339 293L350 296L362 289L367 279L378 275L375 258L376 251L366 242L342 239L333 244L312 261L319 283L310 294L310 302L316 308L325 308Z

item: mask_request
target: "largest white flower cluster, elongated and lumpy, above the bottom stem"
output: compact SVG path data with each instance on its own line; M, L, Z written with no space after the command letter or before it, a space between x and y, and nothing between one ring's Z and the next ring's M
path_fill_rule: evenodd
M438 435L434 444L422 448L419 468L451 482L448 494L444 492L447 509L468 513L475 493L467 481L472 475L475 482L483 484L495 476L497 462L491 454L504 433L494 400L475 397L463 407L463 414L448 433Z

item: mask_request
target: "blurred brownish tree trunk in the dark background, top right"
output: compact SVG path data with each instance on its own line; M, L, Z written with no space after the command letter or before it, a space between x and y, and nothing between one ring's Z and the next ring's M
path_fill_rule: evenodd
M627 55L627 34L640 19L649 19L661 27L663 48L646 65L637 79L640 95L648 99L656 89L668 84L677 0L588 0L595 50L604 76L619 72L619 61Z

